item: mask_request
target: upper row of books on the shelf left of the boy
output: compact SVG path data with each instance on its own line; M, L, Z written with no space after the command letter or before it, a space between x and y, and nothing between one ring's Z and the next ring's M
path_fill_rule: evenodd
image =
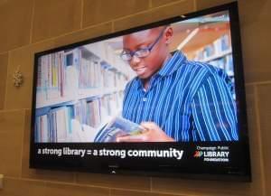
M127 82L119 70L83 58L80 48L42 56L37 70L37 102L79 94L79 89L123 88Z

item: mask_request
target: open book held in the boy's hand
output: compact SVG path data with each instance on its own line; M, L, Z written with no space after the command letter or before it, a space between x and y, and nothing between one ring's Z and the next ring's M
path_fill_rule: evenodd
M145 128L126 118L114 117L96 135L94 142L116 142L118 136L139 135L145 132Z

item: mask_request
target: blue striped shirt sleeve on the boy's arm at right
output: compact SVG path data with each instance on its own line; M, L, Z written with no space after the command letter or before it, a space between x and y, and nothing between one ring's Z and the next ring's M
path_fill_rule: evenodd
M210 75L192 98L193 141L238 140L236 105L229 85Z

